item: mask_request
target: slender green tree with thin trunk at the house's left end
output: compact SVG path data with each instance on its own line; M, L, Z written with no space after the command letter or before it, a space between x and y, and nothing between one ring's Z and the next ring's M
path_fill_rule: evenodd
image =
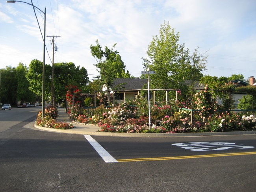
M108 102L110 103L109 89L113 83L114 78L130 78L130 73L125 70L124 62L119 55L119 52L113 51L115 45L111 49L105 46L105 50L102 50L102 46L96 40L96 45L91 45L91 54L96 59L95 65L98 69L100 76L98 77L102 85L106 86L108 91Z

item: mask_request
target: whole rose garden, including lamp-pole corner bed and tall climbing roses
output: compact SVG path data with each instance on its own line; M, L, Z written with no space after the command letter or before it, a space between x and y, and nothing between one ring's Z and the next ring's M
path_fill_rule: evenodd
M79 91L76 90L77 93ZM119 105L106 107L100 105L96 108L82 107L76 100L72 105L69 101L68 114L75 123L93 124L100 127L102 132L117 133L200 133L219 131L247 131L256 129L256 117L249 112L218 111L217 103L212 100L210 92L204 90L194 95L193 114L186 103L172 102L160 103L150 107L150 129L147 100L137 97L133 101L127 101ZM58 111L55 107L46 109L45 117L41 113L37 116L36 123L39 126L70 129L71 124L57 122ZM191 118L191 115L192 118ZM192 122L191 122L192 119Z

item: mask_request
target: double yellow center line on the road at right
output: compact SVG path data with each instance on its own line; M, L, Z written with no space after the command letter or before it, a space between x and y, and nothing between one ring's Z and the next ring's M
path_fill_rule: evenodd
M189 155L178 157L156 157L156 158L137 158L137 159L117 159L118 162L133 162L133 161L163 161L173 159L193 159L193 158L205 158L205 157L224 157L224 156L236 156L236 155L256 155L256 151L244 152L244 153L220 153L211 155Z

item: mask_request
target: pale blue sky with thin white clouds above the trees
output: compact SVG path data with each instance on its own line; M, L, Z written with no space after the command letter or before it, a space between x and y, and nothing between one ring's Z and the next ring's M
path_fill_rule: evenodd
M23 0L30 3L31 0ZM204 75L256 76L255 0L33 0L44 12L46 36L55 38L54 63L85 67L98 75L90 46L99 44L121 56L132 76L141 76L148 45L169 22L179 43L208 55ZM43 33L44 14L35 9ZM45 63L52 65L52 38L46 37ZM43 37L33 6L0 0L0 68L43 61Z

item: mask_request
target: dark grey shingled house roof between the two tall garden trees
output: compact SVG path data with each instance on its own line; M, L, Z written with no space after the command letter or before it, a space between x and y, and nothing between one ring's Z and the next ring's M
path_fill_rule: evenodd
M116 78L111 86L112 90L136 90L142 89L147 84L148 79L138 78Z

